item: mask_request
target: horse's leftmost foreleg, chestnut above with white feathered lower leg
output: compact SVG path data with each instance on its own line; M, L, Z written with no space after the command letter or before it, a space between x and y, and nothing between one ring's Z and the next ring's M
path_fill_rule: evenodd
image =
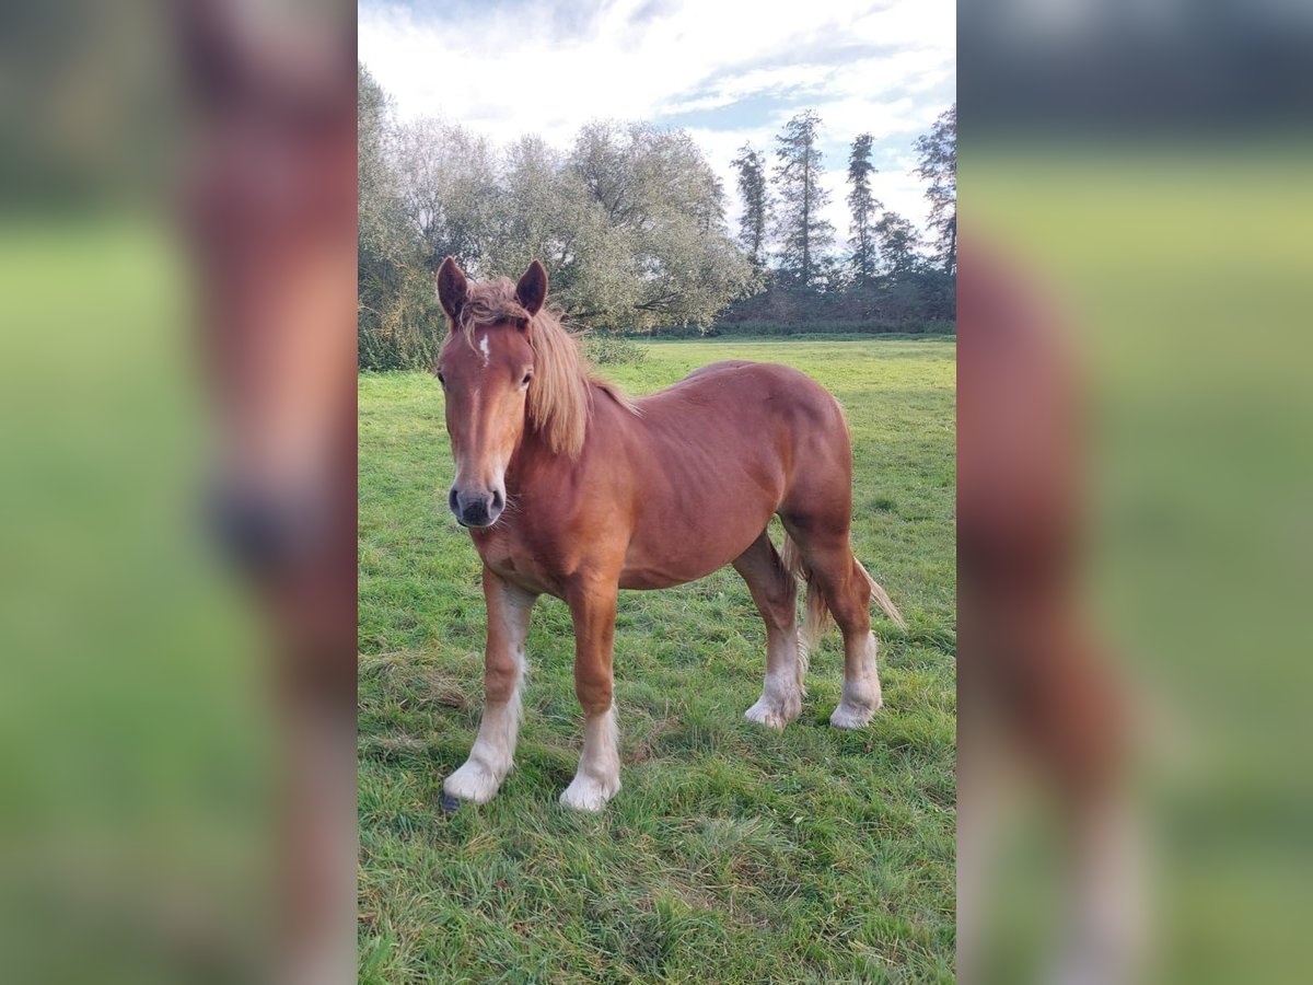
M483 569L488 611L483 663L483 721L470 758L446 777L448 797L483 804L511 771L520 730L520 686L524 683L524 638L537 596ZM450 806L450 805L446 805Z

